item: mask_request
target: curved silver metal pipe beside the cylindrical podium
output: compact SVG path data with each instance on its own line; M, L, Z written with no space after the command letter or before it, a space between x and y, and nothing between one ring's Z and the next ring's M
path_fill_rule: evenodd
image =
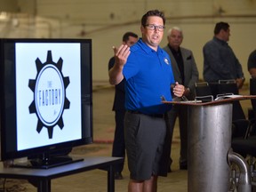
M252 184L250 177L250 168L243 156L235 153L232 148L228 150L228 164L235 163L239 168L238 192L251 192Z

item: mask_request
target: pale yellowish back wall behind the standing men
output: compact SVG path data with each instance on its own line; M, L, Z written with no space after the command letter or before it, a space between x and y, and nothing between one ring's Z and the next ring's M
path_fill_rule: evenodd
M6 4L10 2L5 5L9 7L14 6L12 3L15 2L0 0L0 5L1 1ZM0 22L0 36L92 38L93 80L108 83L108 60L113 55L112 45L121 44L122 36L128 30L140 36L140 19L149 9L164 11L167 29L172 26L183 28L185 38L182 45L194 52L200 78L203 77L203 46L212 39L215 23L228 21L231 29L229 44L243 65L246 81L249 79L247 59L249 53L256 49L253 38L256 31L256 0L17 1L20 12L34 12L37 19L28 17L27 20L20 20L16 26L12 25L12 20ZM164 34L161 46L166 44Z

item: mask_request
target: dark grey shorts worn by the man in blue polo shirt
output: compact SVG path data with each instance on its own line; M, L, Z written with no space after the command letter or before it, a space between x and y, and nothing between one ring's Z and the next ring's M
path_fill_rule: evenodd
M167 175L170 156L164 151L171 148L168 138L163 117L126 112L124 140L132 180Z

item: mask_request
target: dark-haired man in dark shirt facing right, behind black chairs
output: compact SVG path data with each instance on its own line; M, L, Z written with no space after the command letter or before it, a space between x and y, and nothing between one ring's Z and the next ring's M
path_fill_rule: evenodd
M243 68L235 53L228 45L230 29L227 22L218 22L212 40L204 44L204 81L209 84L219 80L236 81L237 88L244 84Z

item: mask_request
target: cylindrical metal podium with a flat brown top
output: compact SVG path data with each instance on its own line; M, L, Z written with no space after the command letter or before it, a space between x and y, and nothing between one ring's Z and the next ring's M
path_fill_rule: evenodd
M208 102L163 101L166 104L188 105L188 192L228 192L228 161L239 158L230 152L232 101L255 98L241 95ZM249 174L245 177L248 179ZM250 180L241 188L245 188L243 192L251 191Z

